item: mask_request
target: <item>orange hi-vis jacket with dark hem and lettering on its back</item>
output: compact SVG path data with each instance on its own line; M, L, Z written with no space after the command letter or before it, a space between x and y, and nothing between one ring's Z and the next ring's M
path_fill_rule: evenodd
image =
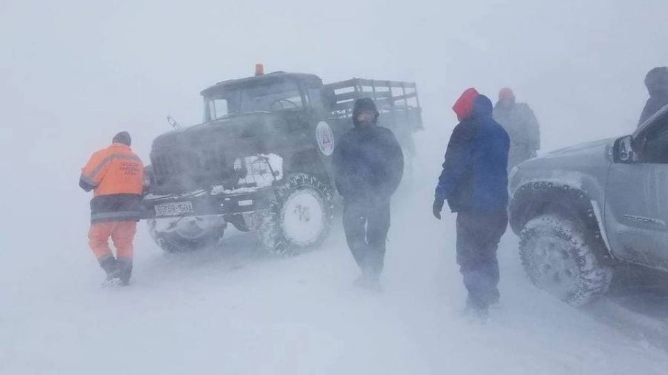
M93 153L79 178L82 189L93 190L91 222L137 222L143 181L144 165L125 144Z

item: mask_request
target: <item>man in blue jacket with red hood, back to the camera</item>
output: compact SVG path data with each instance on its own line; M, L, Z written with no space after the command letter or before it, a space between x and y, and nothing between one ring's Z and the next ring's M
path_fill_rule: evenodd
M486 316L488 306L500 297L496 250L508 224L510 140L492 118L487 97L477 95L472 108L461 102L453 108L462 120L447 145L433 213L440 219L445 199L457 213L457 264L468 290L467 310Z

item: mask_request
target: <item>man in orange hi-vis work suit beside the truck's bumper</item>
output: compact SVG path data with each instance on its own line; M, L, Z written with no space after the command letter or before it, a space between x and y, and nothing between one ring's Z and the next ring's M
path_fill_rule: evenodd
M132 241L139 221L144 166L130 149L127 131L118 133L106 149L93 153L81 169L79 186L90 192L90 231L88 245L106 283L127 285L132 276ZM109 238L116 247L116 258Z

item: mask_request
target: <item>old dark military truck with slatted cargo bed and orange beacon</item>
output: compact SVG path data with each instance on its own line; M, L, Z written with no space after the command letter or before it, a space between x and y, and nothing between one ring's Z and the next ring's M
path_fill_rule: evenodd
M353 101L374 99L379 124L395 131L408 157L422 128L415 83L324 85L313 74L259 67L201 94L204 122L160 135L150 153L142 217L168 252L215 244L228 224L276 253L316 247L339 201L331 156L353 126Z

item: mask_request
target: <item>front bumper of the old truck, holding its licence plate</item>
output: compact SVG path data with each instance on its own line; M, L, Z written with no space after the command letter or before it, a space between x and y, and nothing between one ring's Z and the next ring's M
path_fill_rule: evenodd
M211 194L205 190L187 194L147 194L141 205L142 219L235 215L269 207L273 188L262 188L232 194Z

